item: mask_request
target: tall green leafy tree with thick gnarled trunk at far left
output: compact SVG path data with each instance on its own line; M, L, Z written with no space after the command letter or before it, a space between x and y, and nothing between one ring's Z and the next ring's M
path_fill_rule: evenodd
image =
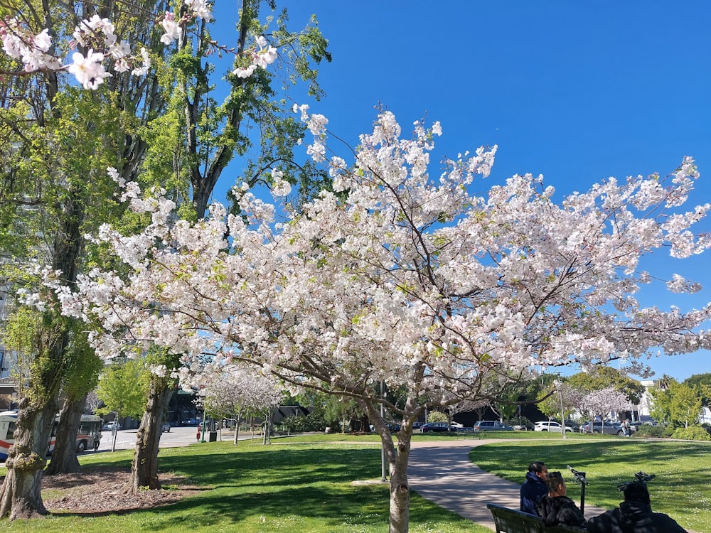
M48 28L54 42L61 43L82 19L100 12L114 18L124 38L150 43L153 22L140 14L156 5L166 7L137 1L134 11L122 11L124 4L24 0L6 6L6 14L21 18L33 34ZM82 45L79 50L87 51ZM62 51L58 44L50 50ZM14 60L4 62L6 72L21 70ZM85 235L120 212L107 166L118 168L126 181L137 179L145 150L137 131L160 111L160 99L151 97L156 86L155 74L139 80L117 73L102 90L90 93L53 70L5 76L0 82L0 157L6 170L0 179L1 252L11 258L2 274L15 289L31 295L26 305L37 302L34 294L43 302L31 354L31 387L20 402L16 442L0 490L2 516L46 513L41 499L46 443L60 410L60 390L63 384L71 389L70 369L82 352L75 349L81 328L60 315L31 265L60 272L68 286L75 286L81 269L90 268ZM65 394L68 402L75 401L72 397ZM60 419L58 433L72 434L73 416Z

